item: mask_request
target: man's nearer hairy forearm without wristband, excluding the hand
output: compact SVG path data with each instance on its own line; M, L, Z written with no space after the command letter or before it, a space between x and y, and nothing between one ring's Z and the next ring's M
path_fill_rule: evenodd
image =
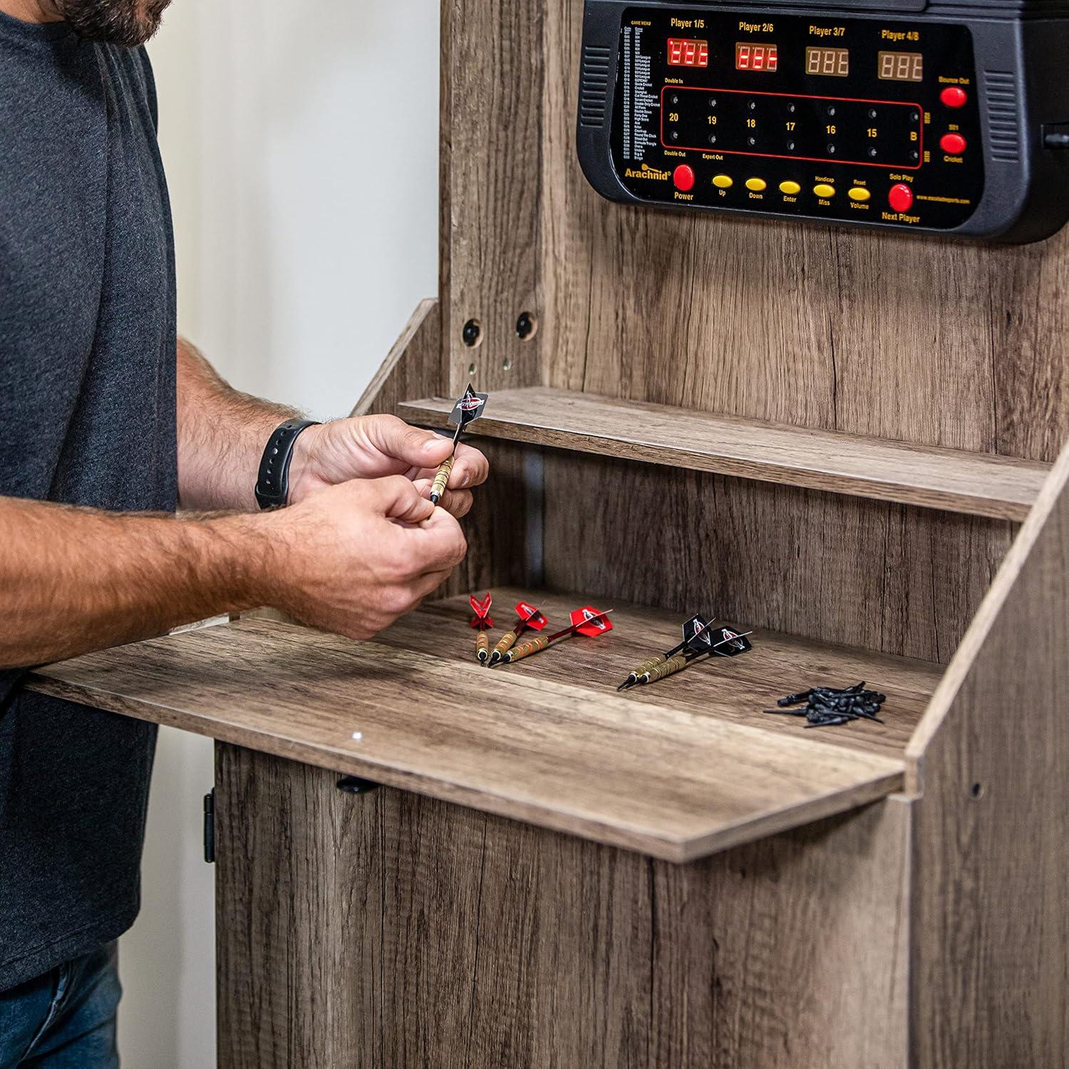
M0 498L0 667L263 604L269 516L125 515ZM260 569L253 573L252 569Z

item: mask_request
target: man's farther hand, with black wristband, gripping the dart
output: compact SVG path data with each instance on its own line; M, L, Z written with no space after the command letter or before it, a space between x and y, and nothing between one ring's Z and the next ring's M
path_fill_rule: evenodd
M310 427L294 446L290 463L290 501L297 503L324 486L350 479L404 476L423 497L438 465L449 455L452 440L409 427L396 416L357 416L322 427ZM463 443L439 502L454 516L471 508L471 486L486 481L490 464L478 449Z

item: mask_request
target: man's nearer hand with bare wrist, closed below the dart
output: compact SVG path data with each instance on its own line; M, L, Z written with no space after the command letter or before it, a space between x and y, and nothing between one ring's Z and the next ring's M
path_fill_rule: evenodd
M400 475L324 484L265 518L280 551L268 603L351 638L416 608L467 552L460 524Z

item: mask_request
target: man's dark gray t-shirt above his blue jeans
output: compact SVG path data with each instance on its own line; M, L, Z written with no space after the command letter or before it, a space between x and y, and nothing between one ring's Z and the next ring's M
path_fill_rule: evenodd
M0 495L174 509L155 127L143 49L0 14ZM151 725L0 671L0 991L133 923L154 744Z

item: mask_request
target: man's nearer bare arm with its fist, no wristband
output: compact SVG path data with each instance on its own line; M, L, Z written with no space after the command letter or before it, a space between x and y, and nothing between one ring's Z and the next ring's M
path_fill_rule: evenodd
M124 515L0 497L0 667L272 605L368 638L463 559L460 524L402 476L329 486L289 509Z

